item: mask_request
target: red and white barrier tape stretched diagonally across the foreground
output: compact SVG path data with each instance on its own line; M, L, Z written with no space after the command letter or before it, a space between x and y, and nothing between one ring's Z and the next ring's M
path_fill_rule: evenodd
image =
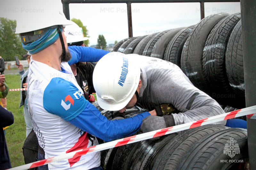
M51 162L56 162L56 161L63 160L63 159L68 160L69 158L82 156L82 155L85 155L85 154L88 154L88 153L98 152L98 151L102 151L102 150L105 150L105 149L122 146L122 145L125 145L125 144L131 144L131 143L134 143L134 142L150 139L150 138L153 138L153 137L159 137L159 136L167 135L167 134L170 134L170 133L175 133L175 132L178 132L178 131L191 129L191 128L195 128L195 127L199 127L199 126L203 126L203 125L207 125L207 124L211 124L211 123L215 123L215 122L220 122L220 121L223 121L223 120L227 120L227 119L231 119L231 118L235 118L235 117L240 117L240 116L244 116L244 115L247 115L247 117L249 117L249 118L252 117L252 116L256 116L256 106L247 107L247 108L243 108L243 109L240 109L240 110L235 110L235 111L228 112L228 113L225 113L225 114L212 116L212 117L202 119L202 120L198 120L198 121L194 121L194 122L180 124L180 125L165 128L165 129L159 129L159 130L155 130L155 131L152 131L152 132L143 133L143 134L140 134L140 135L135 135L135 136L132 136L132 137L126 137L126 138L123 138L123 139L118 139L118 140L111 141L111 142L108 142L108 143L92 146L90 148L85 148L85 149L81 149L81 150L78 150L78 151L66 153L64 155L59 155L59 156L56 156L56 157L53 157L53 158L40 160L40 161L37 161L37 162L34 162L34 163L22 165L22 166L17 166L15 168L11 168L11 169L12 170L25 170L25 169L28 169L28 168L33 168L33 167L37 167L37 166L46 165L46 164L49 164Z

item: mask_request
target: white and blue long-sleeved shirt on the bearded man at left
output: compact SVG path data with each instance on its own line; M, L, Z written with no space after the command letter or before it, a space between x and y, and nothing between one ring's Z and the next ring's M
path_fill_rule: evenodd
M104 50L68 47L72 59L61 63L61 71L33 60L28 72L28 110L45 159L98 144L87 132L105 141L132 135L148 112L122 121L108 121L88 100L69 65L95 62ZM96 54L97 53L97 54ZM100 152L48 164L49 169L91 169L100 166Z

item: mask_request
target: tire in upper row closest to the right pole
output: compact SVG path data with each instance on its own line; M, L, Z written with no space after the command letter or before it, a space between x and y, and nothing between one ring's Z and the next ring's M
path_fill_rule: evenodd
M229 84L237 97L241 98L241 102L244 102L245 87L242 42L242 26L241 21L239 21L229 36L225 62Z

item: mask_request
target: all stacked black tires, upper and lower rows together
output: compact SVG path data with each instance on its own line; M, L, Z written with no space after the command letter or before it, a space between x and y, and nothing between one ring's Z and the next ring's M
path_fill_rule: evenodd
M178 65L226 113L245 107L240 13L213 14L193 26L126 38L114 51ZM248 169L247 147L246 129L205 125L103 151L101 166L110 170Z

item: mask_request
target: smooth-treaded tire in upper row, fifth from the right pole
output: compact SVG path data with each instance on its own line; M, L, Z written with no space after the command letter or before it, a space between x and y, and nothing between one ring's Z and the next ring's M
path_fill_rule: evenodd
M156 42L155 46L153 47L150 56L155 57L155 58L164 59L164 53L165 53L165 50L166 50L169 42L183 28L184 27L173 29L173 30L169 31L168 33L165 33L161 38L159 38L159 40Z

